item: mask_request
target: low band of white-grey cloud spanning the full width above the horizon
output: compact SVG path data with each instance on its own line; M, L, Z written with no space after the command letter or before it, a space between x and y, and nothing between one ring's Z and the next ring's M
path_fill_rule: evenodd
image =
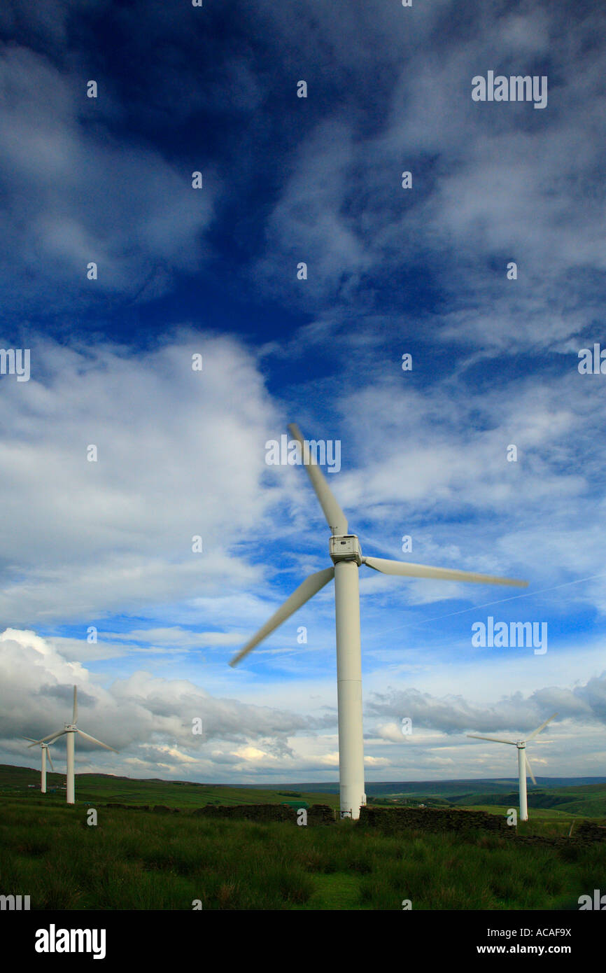
M144 671L102 688L81 664L65 662L48 640L15 630L0 635L0 760L23 763L29 758L30 765L37 764L19 738L40 738L62 726L71 712L74 682L79 687L79 725L120 751L108 754L79 741L80 772L161 772L177 779L241 783L337 779L336 713L318 732L314 717L294 713L289 702L281 701L283 709L242 703L211 696L187 679L162 679ZM466 739L464 733L507 732L517 739L555 708L559 715L549 734L533 740L533 763L542 775L600 775L605 686L603 675L584 685L548 687L483 703L462 696L438 698L413 688L369 691L367 779L514 775L508 754ZM281 699L280 694L274 693L273 699ZM304 710L301 699L299 694L298 708ZM412 733L406 737L400 730L403 714L412 718ZM192 734L194 718L202 719L202 737ZM60 742L54 753L55 763L62 766Z

